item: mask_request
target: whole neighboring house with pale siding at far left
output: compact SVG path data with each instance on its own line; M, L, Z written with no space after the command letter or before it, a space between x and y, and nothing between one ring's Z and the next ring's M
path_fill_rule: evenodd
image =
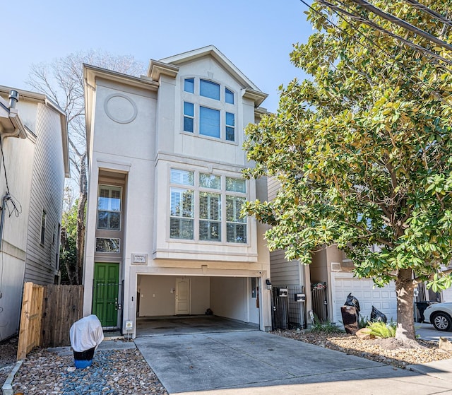
M0 341L18 332L23 283L59 276L66 116L45 95L0 86ZM18 102L16 101L18 99Z

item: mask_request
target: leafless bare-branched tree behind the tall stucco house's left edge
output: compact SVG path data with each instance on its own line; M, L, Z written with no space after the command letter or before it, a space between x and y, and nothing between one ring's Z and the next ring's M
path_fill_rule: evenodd
M85 249L85 206L88 196L85 101L83 98L83 64L138 76L145 71L141 62L129 55L112 55L102 51L76 52L49 63L33 64L28 85L44 93L66 113L69 131L69 159L73 184L78 186L76 264L67 264L71 283L81 284ZM69 207L70 208L70 207ZM62 235L66 229L62 230ZM67 240L63 238L63 244ZM62 254L64 258L66 255Z

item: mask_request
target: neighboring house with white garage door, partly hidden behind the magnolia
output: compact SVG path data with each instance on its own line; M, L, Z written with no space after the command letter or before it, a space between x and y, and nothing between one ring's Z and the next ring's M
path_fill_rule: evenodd
M269 200L275 198L279 187L277 179L268 179ZM344 305L349 293L359 300L360 314L363 317L370 317L372 306L375 306L388 319L396 319L395 284L391 282L383 288L377 288L371 278L355 278L352 269L352 261L336 247L322 247L312 254L309 265L300 264L299 261L287 262L282 250L270 253L272 284L289 289L303 288L306 301L299 304L298 308L304 309L301 314L306 314L307 324L311 323L310 310L321 319L328 319L336 324L342 322L340 307ZM292 302L291 298L289 302ZM294 323L305 324L303 320Z

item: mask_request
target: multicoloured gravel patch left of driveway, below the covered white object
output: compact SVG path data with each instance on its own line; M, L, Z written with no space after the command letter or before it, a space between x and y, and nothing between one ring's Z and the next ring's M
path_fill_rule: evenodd
M73 366L73 355L57 355L37 348L16 374L14 394L168 394L136 348L97 350L90 367ZM1 384L4 379L0 379Z

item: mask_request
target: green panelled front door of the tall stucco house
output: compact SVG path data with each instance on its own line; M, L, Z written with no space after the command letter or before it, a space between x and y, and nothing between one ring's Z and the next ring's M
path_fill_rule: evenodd
M119 264L94 264L93 314L102 326L117 327Z

